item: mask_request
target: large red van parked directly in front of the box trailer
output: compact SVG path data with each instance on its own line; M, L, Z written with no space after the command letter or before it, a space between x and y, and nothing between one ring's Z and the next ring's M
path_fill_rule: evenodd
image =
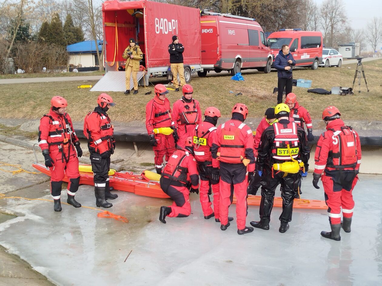
M203 72L227 70L235 75L244 69L269 73L272 54L266 37L255 19L202 11L201 54Z

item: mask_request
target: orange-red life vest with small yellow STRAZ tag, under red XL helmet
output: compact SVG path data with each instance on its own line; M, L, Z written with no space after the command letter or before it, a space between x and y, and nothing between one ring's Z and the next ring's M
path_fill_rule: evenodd
M219 160L225 163L239 164L245 158L244 142L240 140L241 129L246 126L241 123L235 130L225 128L225 123L222 124L222 137L220 142Z

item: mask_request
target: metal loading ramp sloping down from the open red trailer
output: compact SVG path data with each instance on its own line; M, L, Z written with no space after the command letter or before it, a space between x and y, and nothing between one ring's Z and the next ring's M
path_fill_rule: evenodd
M146 73L145 78L143 75L144 71L139 71L138 85L149 85L149 77ZM133 89L133 74L130 77L130 87ZM130 90L131 90L130 89ZM90 91L122 91L126 90L126 76L124 71L110 71L105 73L105 75L90 89Z

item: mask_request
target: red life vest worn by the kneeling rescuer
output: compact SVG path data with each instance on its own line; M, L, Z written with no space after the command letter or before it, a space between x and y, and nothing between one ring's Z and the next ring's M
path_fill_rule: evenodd
M181 167L182 161L189 156L189 152L183 149L176 149L170 156L166 165L162 169L162 176L168 177L172 180L179 181L183 184L188 183L188 168Z

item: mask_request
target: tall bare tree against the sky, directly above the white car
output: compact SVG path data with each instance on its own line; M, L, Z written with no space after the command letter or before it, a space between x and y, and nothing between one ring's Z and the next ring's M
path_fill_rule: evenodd
M326 0L322 2L322 29L324 30L324 42L327 46L338 45L336 37L343 32L346 17L342 0Z

